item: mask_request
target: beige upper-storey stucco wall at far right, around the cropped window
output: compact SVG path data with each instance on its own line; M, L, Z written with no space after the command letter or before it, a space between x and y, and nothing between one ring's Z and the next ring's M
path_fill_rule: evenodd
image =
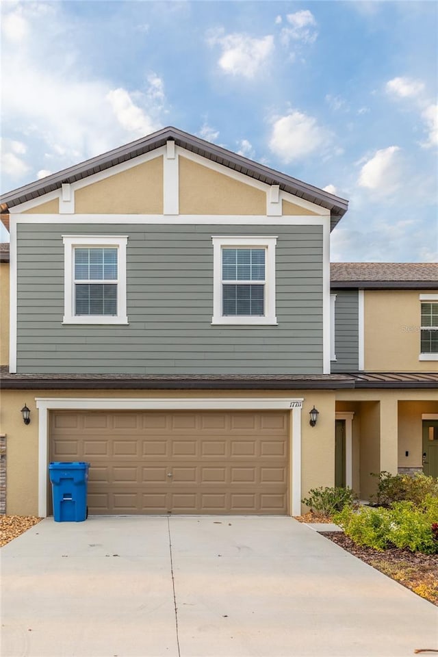
M438 290L365 290L365 370L438 372L438 361L420 361L420 294Z

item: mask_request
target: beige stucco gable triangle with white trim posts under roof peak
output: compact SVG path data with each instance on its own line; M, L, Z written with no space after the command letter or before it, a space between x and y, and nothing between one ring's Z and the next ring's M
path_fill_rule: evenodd
M146 161L145 161L146 158ZM114 165L16 207L24 214L327 216L309 201L174 149ZM53 198L55 196L55 198ZM292 220L293 221L293 220Z

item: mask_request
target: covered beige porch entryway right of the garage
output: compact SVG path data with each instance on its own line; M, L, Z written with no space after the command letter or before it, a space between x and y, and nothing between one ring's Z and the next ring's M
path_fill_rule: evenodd
M436 388L338 390L335 424L335 485L361 500L376 491L372 473L438 476Z

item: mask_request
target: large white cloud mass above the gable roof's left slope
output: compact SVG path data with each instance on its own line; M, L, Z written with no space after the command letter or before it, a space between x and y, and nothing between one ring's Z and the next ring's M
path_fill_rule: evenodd
M12 3L5 4L9 8ZM8 8L3 7L4 17L18 15L27 32L3 52L2 85L8 92L2 96L2 132L25 142L27 154L24 162L21 153L8 146L5 152L18 156L18 161L6 158L5 188L15 185L8 175L18 178L21 172L19 182L25 183L31 170L59 170L163 125L166 97L156 73L149 73L140 89L112 85L90 73L88 55L84 57L76 45L79 28L66 25L63 3L18 3L13 11ZM6 24L21 25L14 21L10 18ZM63 57L53 66L53 53L60 49Z

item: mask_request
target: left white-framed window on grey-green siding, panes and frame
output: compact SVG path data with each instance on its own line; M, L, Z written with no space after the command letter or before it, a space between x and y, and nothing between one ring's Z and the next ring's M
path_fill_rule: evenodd
M63 235L64 324L127 324L126 247L120 235Z

